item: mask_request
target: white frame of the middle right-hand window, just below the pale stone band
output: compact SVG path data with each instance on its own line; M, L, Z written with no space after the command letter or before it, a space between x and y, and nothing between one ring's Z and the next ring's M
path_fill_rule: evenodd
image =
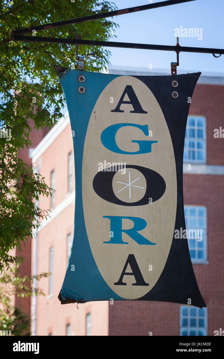
M200 263L207 263L207 208L205 206L200 206L200 205L184 205L184 209L191 209L191 208L195 208L196 209L196 212L198 211L198 209L200 208L203 208L204 209L204 213L205 213L205 216L203 217L204 220L205 220L205 227L202 228L202 227L198 227L197 226L197 219L198 219L198 216L196 215L195 216L195 219L196 219L196 226L195 228L191 228L190 225L186 225L186 229L187 229L187 233L188 233L188 229L204 229L204 233L205 233L205 236L204 238L202 239L203 243L204 243L204 258L191 258L191 262L192 264L200 264ZM185 215L184 215L185 217ZM187 215L187 219L189 219L189 216ZM190 246L190 238L187 239L188 241L188 248L189 248L189 251L190 250L196 250L196 253L198 253L198 249L200 250L201 248L198 248L198 243L200 243L199 241L197 241L197 239L195 239L195 243L196 243L196 247L192 248Z

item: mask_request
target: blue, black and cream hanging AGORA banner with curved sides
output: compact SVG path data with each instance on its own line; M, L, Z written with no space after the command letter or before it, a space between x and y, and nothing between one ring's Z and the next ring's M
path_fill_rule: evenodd
M62 304L205 307L186 236L183 148L200 73L120 76L55 66L73 134L76 201ZM185 237L185 238L184 238Z

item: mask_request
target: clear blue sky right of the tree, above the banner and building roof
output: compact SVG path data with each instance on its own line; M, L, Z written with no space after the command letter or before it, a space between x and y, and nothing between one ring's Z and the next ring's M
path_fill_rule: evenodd
M148 0L113 0L118 9L148 4ZM152 0L156 3L157 0ZM181 46L224 48L224 1L195 0L189 3L119 15L113 21L120 25L112 41L156 45L175 45L175 28L202 29L202 39L179 37ZM114 67L139 67L148 70L170 71L170 62L176 62L173 51L108 48ZM198 72L224 75L224 55L216 59L211 54L180 52L177 73Z

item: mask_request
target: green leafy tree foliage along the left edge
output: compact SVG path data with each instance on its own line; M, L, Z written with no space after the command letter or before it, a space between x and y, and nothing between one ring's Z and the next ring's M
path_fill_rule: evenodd
M36 129L50 128L57 122L65 102L54 65L75 64L77 68L75 46L9 41L10 31L115 9L110 1L98 0L1 0L0 271L23 261L22 256L10 255L9 250L15 246L20 249L20 243L26 243L48 215L36 200L40 195L49 196L52 189L18 157L21 148L32 145L29 119L33 119ZM116 26L109 20L97 19L37 31L36 35L74 38L78 30L79 38L108 40ZM86 57L87 71L102 71L109 64L110 52L101 47L79 46L80 55Z

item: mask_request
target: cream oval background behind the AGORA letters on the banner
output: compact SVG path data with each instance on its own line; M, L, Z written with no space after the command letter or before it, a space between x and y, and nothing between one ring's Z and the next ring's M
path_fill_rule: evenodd
M111 112L116 108L127 85L132 86L142 109L147 113L131 113L133 106L128 103L123 103L120 106L124 112ZM114 98L113 103L110 103L111 97ZM129 101L127 94L123 101ZM140 146L138 143L133 143L132 140L157 141L157 143L152 144L150 153L115 153L102 144L101 134L107 127L117 123L147 125L148 131L152 131L150 132L152 136L149 137L139 128L121 127L116 132L115 137L116 144L121 150L138 151ZM100 163L104 164L104 161L107 163L104 168L109 167L110 164L113 165L113 163L123 162L127 164L126 173L119 175L119 181L113 182L113 188L116 188L116 192L119 188L122 190L126 186L124 183L129 184L129 176L131 182L136 180L135 175L138 171L132 176L132 169L128 168L128 165L137 165L149 168L163 177L166 185L164 194L153 203L138 206L130 205L130 188L137 200L141 199L143 195L143 192L142 195L138 194L137 190L145 191L145 181L143 178L141 181L140 174L138 175L140 179L136 180L135 183L133 182L133 185L137 187L127 186L120 196L123 201L127 196L129 205L118 205L102 199L93 189L93 178L99 171ZM123 181L120 180L121 177L123 177ZM119 187L117 181L123 184L120 183ZM163 112L150 89L141 80L133 76L119 76L111 81L102 91L93 108L83 150L82 199L88 240L93 258L102 277L120 297L125 299L141 298L156 284L169 255L177 210L177 176L173 144ZM104 243L113 239L110 237L112 235L110 233L110 219L104 218L104 216L144 219L147 225L138 233L156 244L138 244L124 232L122 232L122 241L126 243ZM122 219L122 229L131 229L132 227L132 220ZM148 285L132 285L136 283L134 275L125 274L123 283L126 285L114 284L119 281L130 254L134 255L141 275ZM149 266L152 266L150 267L152 270L149 270ZM125 272L132 272L130 265L127 266Z

